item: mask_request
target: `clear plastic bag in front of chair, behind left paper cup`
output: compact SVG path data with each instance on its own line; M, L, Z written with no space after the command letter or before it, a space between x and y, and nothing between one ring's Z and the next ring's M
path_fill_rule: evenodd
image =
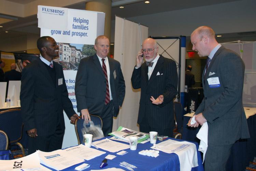
M93 135L93 141L103 138L104 134L101 130L100 125L94 125L93 121L84 120L84 127L82 128L82 134L91 134ZM83 144L84 144L84 138L83 138Z

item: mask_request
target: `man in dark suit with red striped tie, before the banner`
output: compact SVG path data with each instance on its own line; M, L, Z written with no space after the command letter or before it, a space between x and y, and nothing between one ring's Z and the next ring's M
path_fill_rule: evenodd
M101 117L104 136L112 132L113 116L117 116L125 97L120 63L107 56L109 46L108 37L98 36L96 54L81 60L75 78L77 111L85 120L90 120L89 114Z

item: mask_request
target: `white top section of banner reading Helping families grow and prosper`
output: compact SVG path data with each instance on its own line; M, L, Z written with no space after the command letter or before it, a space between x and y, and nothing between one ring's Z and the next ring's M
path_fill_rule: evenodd
M94 45L95 38L104 34L102 12L39 5L37 16L41 36L57 42Z

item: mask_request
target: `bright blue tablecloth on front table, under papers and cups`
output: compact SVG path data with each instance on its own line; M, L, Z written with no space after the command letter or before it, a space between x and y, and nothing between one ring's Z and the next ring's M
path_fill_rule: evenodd
M103 138L102 138L103 139ZM172 139L172 138L171 138ZM174 139L177 140L177 139ZM183 140L178 140L178 141L183 141ZM120 141L118 141L120 142ZM161 141L157 141L157 143L159 143ZM195 142L193 142L195 143ZM198 152L198 143L195 143L196 147L197 147L197 157L198 157L198 167L192 168L192 171L203 171L203 166L202 166L202 158L200 155L200 152ZM130 149L126 149L125 151L127 151L128 153L121 156L121 155L117 155L116 153L111 153L108 151L105 151L106 153L98 156L94 159L85 161L84 163L86 164L90 164L90 167L85 169L86 170L91 170L91 169L100 169L99 166L102 162L102 160L105 158L105 156L107 156L108 154L111 155L115 155L116 157L112 160L108 159L108 166L102 168L102 169L107 169L107 168L121 168L124 170L128 170L124 167L119 166L120 162L127 162L131 165L136 166L137 168L134 169L134 171L136 170L152 170L152 171L163 171L163 170L168 170L168 171L180 171L180 161L179 161L179 157L174 154L168 154L168 153L164 153L162 151L159 152L159 156L158 157L149 157L149 156L143 156L138 154L139 151L141 150L151 150L152 144L150 142L146 142L144 144L139 143L137 146L137 150L130 150ZM92 147L94 148L94 147ZM104 151L102 149L99 149L100 151ZM75 167L81 165L77 164L74 165L72 167L69 167L65 170L74 170Z

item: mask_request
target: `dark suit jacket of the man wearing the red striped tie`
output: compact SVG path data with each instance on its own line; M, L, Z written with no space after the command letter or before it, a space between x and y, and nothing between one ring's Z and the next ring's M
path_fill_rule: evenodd
M110 88L114 103L114 117L119 112L125 97L125 81L120 63L108 58L110 68ZM97 55L83 58L75 79L77 112L88 109L90 114L99 115L106 96L106 79Z

